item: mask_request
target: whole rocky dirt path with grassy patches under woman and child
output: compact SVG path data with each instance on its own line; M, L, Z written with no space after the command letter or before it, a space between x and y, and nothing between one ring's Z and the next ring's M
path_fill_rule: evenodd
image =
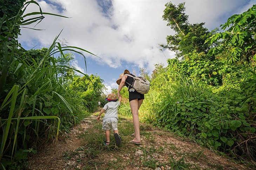
M116 147L112 134L112 143L105 147L102 144L105 133L96 118L94 114L84 119L71 129L67 139L62 138L33 155L28 169L249 169L147 124L140 127L143 144L130 144L133 124L121 116L118 128L122 144Z

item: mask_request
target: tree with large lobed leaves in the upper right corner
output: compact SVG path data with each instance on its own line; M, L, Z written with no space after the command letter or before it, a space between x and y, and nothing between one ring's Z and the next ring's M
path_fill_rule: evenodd
M240 15L229 17L221 30L206 40L209 44L221 42L209 50L209 55L223 53L231 63L256 61L256 5Z

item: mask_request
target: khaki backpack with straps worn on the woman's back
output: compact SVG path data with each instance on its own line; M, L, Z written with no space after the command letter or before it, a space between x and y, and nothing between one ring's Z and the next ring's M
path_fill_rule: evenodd
M132 88L134 88L137 92L141 93L141 94L147 94L149 91L149 86L150 83L148 80L146 80L143 77L137 77L137 76L132 76L129 74L125 74L124 76L129 76L129 77L133 77L133 84L130 84L128 82L126 82L127 84L129 84L129 86L131 86Z

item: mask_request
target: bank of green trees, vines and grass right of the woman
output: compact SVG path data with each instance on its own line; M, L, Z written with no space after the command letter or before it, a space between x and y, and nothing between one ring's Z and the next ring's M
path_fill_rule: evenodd
M151 75L140 120L255 166L255 7L231 16L224 32L211 35L215 30L203 23L188 23L184 3L167 3L163 19L176 34L161 46L177 57L168 59L167 68L156 65L161 73ZM204 36L188 41L195 33Z

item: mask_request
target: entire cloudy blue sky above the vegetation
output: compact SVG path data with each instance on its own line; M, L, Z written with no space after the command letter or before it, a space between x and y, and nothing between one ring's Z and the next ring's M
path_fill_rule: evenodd
M25 49L49 47L63 29L59 39L68 45L86 49L97 56L85 54L87 73L99 75L108 89L117 88L115 80L124 69L147 68L151 73L154 64L167 65L174 52L160 51L159 44L166 43L166 36L174 31L162 20L165 0L36 0L43 12L70 17L46 16L36 26L36 31L21 29L19 42ZM233 14L240 14L256 0L173 0L175 5L186 2L190 23L205 22L212 30L227 21ZM30 5L27 12L39 11ZM83 57L75 54L73 66L86 73Z

